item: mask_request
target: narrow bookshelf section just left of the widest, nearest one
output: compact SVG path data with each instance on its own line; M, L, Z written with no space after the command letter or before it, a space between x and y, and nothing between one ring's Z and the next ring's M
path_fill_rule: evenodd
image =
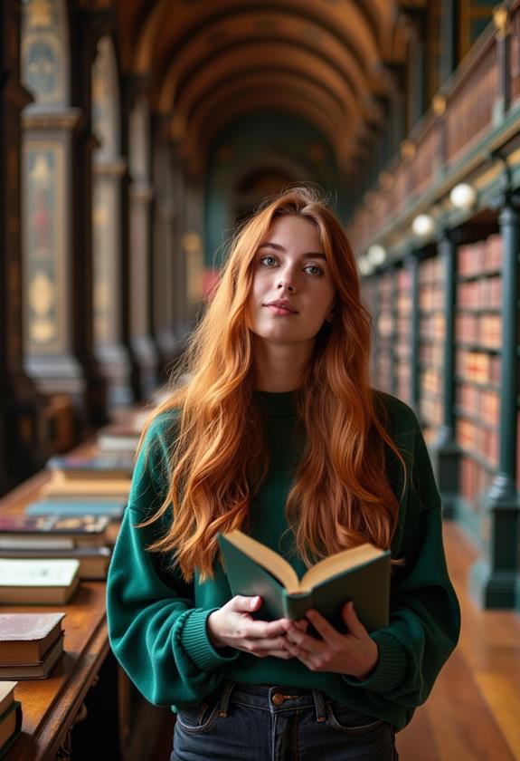
M419 377L420 412L424 438L430 444L442 425L444 294L440 256L419 265Z

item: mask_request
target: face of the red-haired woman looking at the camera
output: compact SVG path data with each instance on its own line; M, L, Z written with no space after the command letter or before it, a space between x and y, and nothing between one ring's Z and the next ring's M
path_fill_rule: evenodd
M253 264L248 325L265 342L312 344L332 317L336 290L317 226L275 217Z

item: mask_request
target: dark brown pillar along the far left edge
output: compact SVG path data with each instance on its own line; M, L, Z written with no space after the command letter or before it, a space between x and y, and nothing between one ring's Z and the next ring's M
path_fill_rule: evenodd
M0 494L47 456L43 397L24 371L21 250L20 5L0 4Z

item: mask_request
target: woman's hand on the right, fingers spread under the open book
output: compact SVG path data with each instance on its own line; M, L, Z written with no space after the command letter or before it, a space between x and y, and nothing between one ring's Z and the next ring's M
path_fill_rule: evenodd
M306 618L323 638L317 640L287 621L287 649L311 671L334 671L367 679L379 658L377 644L359 621L353 602L345 602L341 612L347 633L341 634L317 611L307 611Z

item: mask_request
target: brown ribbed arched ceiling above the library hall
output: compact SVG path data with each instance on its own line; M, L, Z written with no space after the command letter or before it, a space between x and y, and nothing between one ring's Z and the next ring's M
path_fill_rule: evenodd
M116 0L126 73L147 74L187 159L245 113L310 121L345 167L388 92L401 39L393 0ZM397 48L397 49L396 49Z

